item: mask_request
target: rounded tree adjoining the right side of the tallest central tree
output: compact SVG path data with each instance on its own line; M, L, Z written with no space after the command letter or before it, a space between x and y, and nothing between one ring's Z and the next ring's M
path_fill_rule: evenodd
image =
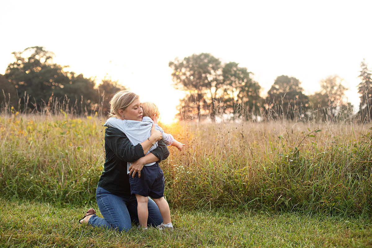
M246 119L260 111L260 85L250 77L247 68L230 62L222 70L222 102L225 113L244 115Z

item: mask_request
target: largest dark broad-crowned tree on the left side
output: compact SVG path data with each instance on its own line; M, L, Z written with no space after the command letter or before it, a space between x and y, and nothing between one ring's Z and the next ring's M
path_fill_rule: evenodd
M15 62L8 65L5 77L21 96L27 94L33 100L33 104L23 103L26 109L41 110L52 98L67 109L90 108L96 95L92 79L65 71L66 67L53 63L54 54L41 46L13 52L13 55Z

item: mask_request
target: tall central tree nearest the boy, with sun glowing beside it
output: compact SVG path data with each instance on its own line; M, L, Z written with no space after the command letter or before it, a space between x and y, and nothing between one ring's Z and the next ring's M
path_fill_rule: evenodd
M170 61L169 67L173 70L175 88L187 92L183 101L195 99L196 111L187 111L195 115L189 117L199 119L201 115L210 115L214 119L216 93L221 84L221 61L208 53L193 54Z

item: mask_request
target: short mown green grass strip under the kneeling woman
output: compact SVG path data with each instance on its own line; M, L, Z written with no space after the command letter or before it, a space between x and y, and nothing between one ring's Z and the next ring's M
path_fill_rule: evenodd
M234 210L171 211L175 230L79 225L86 208L0 199L1 247L371 247L372 220ZM98 215L100 215L98 213Z

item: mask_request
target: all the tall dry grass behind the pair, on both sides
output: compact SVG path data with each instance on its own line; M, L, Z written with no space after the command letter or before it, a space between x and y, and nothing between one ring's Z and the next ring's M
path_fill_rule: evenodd
M0 194L89 204L103 170L105 120L0 116ZM180 122L187 144L161 163L172 207L371 214L371 128L326 122Z

